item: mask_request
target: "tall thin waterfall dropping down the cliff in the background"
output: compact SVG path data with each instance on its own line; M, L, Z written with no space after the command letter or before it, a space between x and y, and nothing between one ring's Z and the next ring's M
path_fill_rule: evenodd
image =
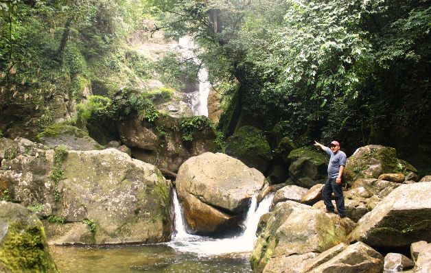
M180 50L183 60L192 59L196 64L200 65L200 60L194 54L196 45L191 36L183 36L178 40L178 48ZM200 65L198 71L198 88L195 91L187 93L187 98L190 100L191 109L194 115L208 117L208 95L211 84L208 80L208 69Z

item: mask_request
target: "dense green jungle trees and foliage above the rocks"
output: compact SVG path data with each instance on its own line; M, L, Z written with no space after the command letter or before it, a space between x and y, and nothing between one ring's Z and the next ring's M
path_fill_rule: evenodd
M348 153L389 145L424 168L431 164L430 3L0 1L0 132L53 123L58 94L67 94L71 110L90 88L110 109L119 88L145 79L182 88L196 65L170 55L154 61L131 46L163 31L167 40L192 35L202 47L196 54L222 94L226 137L253 125L273 143L338 139Z

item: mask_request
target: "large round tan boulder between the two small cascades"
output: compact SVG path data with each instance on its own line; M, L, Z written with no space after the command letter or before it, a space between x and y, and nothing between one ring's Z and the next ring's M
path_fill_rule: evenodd
M189 233L209 235L234 228L264 182L257 169L226 154L207 152L189 158L176 177Z

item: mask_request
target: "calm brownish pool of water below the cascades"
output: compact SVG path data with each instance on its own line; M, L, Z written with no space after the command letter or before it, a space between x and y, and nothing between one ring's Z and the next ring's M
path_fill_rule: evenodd
M151 246L51 246L60 272L252 272L250 253L202 256L165 244Z

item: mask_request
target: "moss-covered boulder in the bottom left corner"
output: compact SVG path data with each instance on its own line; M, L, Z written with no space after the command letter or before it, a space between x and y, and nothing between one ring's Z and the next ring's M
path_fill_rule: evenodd
M1 272L58 272L36 214L0 201L0 229Z

